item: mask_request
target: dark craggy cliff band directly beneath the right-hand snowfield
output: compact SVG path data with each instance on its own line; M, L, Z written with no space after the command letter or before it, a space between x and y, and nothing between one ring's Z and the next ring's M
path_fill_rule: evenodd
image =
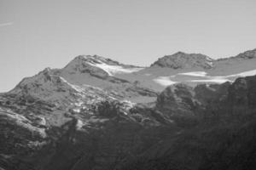
M195 115L201 111L228 111L232 114L255 111L256 77L241 77L235 82L198 85L191 88L177 84L166 88L158 97L156 107L163 112L181 115L177 110ZM198 110L196 110L198 109Z

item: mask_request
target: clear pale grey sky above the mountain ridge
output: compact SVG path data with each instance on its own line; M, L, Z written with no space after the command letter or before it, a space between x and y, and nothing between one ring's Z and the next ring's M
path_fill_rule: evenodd
M256 48L255 0L0 0L0 92L79 54L150 65Z

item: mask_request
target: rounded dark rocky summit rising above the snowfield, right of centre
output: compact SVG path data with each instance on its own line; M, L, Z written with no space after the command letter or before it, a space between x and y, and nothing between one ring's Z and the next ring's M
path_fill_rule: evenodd
M211 69L212 61L203 54L185 54L177 52L176 54L166 55L154 62L151 66L169 67L172 69Z

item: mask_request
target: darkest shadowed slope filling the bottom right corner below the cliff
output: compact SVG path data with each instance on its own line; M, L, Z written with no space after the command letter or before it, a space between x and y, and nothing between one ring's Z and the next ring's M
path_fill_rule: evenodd
M121 169L255 169L255 116L247 123L200 126L165 139ZM154 155L156 152L159 155ZM152 156L153 154L154 156Z

